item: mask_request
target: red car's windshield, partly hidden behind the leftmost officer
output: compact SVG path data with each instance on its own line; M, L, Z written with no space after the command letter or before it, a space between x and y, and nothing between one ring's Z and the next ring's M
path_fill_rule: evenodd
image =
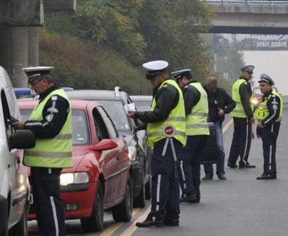
M28 120L31 109L20 110L22 119ZM73 145L89 145L88 123L84 110L72 110L72 143Z

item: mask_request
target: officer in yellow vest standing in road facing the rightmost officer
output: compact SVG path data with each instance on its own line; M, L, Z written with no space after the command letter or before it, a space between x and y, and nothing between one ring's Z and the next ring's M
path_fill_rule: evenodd
M252 79L254 66L241 68L242 74L233 84L232 98L236 107L231 112L234 122L233 140L228 158L228 166L237 168L236 161L240 156L239 168L255 168L248 162L249 151L252 141L252 124L254 124L252 104L250 98L252 89L249 80Z

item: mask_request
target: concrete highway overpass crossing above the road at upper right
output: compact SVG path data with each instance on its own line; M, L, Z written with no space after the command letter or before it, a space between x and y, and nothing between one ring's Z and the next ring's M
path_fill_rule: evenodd
M205 0L210 33L288 34L288 1Z

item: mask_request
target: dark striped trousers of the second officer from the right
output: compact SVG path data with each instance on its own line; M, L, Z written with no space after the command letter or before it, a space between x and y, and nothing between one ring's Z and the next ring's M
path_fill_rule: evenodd
M247 163L252 141L252 124L247 118L233 117L234 133L228 161L236 163L240 161Z

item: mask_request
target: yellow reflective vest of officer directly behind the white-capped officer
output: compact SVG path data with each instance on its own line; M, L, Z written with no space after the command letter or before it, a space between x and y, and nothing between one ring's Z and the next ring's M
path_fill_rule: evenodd
M186 117L186 134L193 135L210 135L208 118L208 99L207 93L200 82L192 82L188 86L195 87L200 93L198 103L192 108L190 115Z

